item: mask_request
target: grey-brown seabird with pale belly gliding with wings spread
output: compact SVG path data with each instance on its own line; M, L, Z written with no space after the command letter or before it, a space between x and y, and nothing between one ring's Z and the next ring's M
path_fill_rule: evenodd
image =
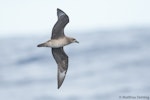
M37 45L37 47L50 47L52 48L53 57L57 63L57 82L58 89L62 85L67 69L68 69L68 56L64 52L63 47L70 43L79 43L75 38L67 37L64 34L64 28L69 23L69 17L62 10L57 8L58 20L52 29L51 39Z

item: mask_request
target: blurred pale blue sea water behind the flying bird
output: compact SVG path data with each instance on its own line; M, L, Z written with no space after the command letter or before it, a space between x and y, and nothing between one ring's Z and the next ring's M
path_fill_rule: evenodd
M0 100L150 99L149 28L70 33L80 43L65 47L59 90L51 49L36 47L49 35L0 38Z

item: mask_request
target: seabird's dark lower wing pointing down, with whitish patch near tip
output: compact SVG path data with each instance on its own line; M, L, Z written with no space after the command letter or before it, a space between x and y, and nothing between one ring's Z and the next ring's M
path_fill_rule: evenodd
M58 89L62 85L67 69L68 69L68 56L63 50L63 47L61 48L52 48L52 54L54 56L54 59L58 65L58 72L57 72L57 81L58 81Z

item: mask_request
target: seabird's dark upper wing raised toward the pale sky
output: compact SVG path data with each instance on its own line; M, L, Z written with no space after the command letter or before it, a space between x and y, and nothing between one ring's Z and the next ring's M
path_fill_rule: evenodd
M58 39L64 36L64 28L69 23L69 17L60 9L57 8L58 20L52 29L51 39Z

